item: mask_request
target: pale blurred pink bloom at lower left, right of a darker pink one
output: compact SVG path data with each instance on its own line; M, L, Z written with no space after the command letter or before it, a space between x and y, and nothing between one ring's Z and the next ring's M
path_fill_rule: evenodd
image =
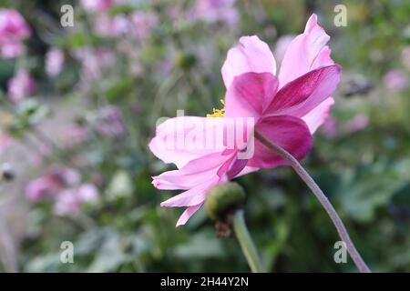
M98 190L92 184L69 188L61 191L56 196L54 213L56 216L76 216L80 213L82 205L95 203L97 199Z

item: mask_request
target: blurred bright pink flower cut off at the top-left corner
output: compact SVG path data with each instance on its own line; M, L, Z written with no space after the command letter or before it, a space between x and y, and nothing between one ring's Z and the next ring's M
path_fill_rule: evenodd
M15 57L23 53L23 39L30 35L30 27L14 9L0 9L0 56Z

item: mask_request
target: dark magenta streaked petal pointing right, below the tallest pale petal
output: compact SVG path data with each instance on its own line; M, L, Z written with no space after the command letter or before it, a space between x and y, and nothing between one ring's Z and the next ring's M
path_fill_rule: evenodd
M288 83L275 95L264 115L307 115L332 95L339 84L341 66L313 70Z

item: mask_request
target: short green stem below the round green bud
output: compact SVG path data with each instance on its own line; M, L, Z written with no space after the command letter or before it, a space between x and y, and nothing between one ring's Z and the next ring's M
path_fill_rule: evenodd
M253 273L263 273L264 270L261 265L261 259L258 256L258 251L256 250L255 244L253 244L251 235L246 227L243 210L236 211L233 216L233 229L240 242L242 252L251 267L251 271Z

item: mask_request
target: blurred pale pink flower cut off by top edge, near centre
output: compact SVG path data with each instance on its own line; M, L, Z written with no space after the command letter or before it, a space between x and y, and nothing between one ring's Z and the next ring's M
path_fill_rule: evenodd
M208 23L224 22L235 25L239 21L235 2L236 0L197 0L190 11L190 18Z

